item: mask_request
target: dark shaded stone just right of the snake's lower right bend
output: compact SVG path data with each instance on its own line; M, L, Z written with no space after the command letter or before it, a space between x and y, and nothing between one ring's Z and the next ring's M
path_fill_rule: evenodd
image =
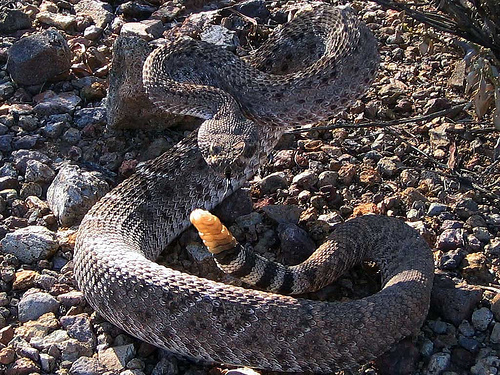
M471 317L482 294L480 289L458 283L446 274L437 273L432 288L431 310L458 326L462 320Z

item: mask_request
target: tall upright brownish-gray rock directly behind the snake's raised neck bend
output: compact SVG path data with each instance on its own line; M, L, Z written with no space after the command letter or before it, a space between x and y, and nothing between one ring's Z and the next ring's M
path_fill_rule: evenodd
M142 66L152 47L139 37L119 36L113 45L106 101L107 123L112 129L175 125L175 116L153 105L142 84Z

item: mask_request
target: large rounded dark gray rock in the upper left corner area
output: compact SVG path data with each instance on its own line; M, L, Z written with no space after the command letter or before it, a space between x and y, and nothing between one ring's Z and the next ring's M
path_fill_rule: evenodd
M8 51L7 71L22 85L38 85L68 72L71 51L56 30L45 30L15 42Z

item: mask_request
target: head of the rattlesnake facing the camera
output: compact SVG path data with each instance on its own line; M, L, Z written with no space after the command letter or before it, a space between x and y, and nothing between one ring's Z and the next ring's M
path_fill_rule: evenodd
M247 175L259 163L257 124L245 118L206 120L198 130L198 147L218 175L228 180Z

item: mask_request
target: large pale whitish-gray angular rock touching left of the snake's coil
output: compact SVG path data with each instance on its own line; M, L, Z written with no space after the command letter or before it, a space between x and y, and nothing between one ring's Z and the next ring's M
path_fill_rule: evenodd
M47 202L64 226L79 222L109 191L99 173L84 172L76 165L64 165L47 190Z

